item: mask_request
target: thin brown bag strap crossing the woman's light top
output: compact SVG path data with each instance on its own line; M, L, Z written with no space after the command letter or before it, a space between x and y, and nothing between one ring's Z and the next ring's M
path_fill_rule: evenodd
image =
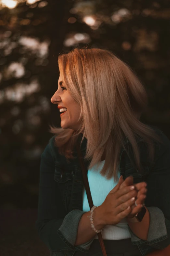
M84 161L83 161L83 157L82 157L82 153L81 153L81 149L80 149L80 144L78 142L77 142L77 152L78 152L78 157L79 157L79 160L80 160L80 166L81 166L81 170L82 170L82 176L83 176L83 180L84 180L84 186L85 186L85 189L86 189L87 199L88 199L88 202L89 202L90 209L92 209L92 207L94 205L93 205L92 195L91 195L91 192L90 192L89 181L88 181L88 177L87 177L87 171L86 171L86 168L85 168L85 165L84 165ZM100 242L100 246L102 248L103 256L107 256L101 232L97 233L97 236L98 236L98 239L99 239L99 242Z

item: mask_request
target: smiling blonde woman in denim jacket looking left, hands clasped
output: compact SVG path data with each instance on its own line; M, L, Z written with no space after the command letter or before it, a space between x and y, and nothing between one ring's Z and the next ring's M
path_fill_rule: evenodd
M102 255L97 232L107 255L144 256L166 248L170 141L139 120L147 106L144 87L108 50L76 48L59 56L58 64L51 102L62 112L61 128L51 127L55 135L41 156L40 238L53 256ZM92 212L79 143L96 206Z

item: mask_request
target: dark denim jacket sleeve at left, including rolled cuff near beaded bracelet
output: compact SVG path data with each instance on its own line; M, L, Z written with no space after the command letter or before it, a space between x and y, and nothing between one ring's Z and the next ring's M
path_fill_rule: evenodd
M55 159L49 143L41 155L40 163L38 217L35 222L38 235L51 252L62 250L87 252L93 239L81 246L74 246L78 223L84 212L76 209L65 214L60 191L54 180L54 170Z

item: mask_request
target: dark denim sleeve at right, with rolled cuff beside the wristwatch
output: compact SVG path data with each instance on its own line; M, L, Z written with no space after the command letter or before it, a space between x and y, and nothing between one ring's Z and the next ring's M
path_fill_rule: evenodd
M147 182L147 202L150 216L148 239L144 241L128 229L131 233L132 245L146 243L146 245L163 249L170 245L170 140L164 133L161 135L163 145L160 144L158 159L151 169Z

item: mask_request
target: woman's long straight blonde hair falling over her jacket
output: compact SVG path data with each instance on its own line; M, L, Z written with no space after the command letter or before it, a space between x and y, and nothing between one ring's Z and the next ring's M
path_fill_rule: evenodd
M152 139L161 140L152 128L139 121L148 98L134 72L112 52L95 48L75 48L60 55L58 65L67 90L80 105L78 131L50 126L50 132L56 134L58 151L67 162L75 158L73 149L80 133L83 133L81 143L84 137L87 138L84 158L91 160L88 168L95 164L98 167L103 152L106 152L100 173L107 179L114 177L118 181L120 149L125 149L124 136L132 145L139 171L137 137L148 143L149 159L153 161Z

